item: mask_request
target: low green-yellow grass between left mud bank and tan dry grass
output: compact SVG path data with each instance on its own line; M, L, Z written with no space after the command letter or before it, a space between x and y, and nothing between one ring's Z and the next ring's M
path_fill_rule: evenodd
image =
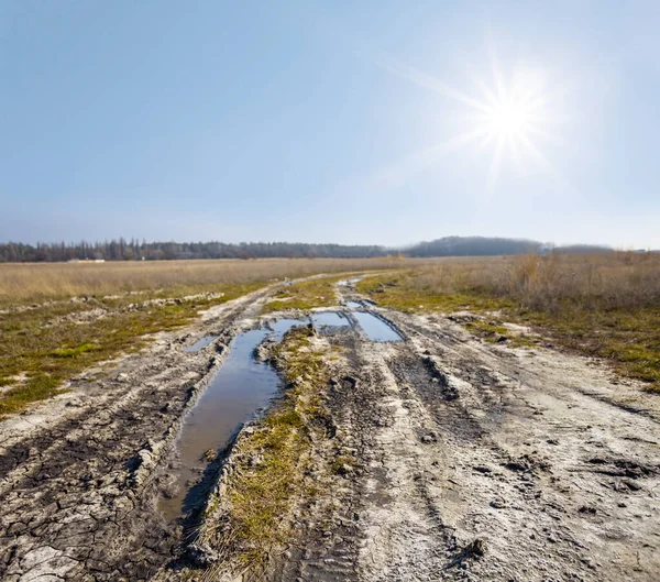
M148 334L185 326L200 310L263 285L226 285L221 297L165 305L135 304L135 297L98 298L0 315L0 418L61 394L63 383L85 369L142 349Z

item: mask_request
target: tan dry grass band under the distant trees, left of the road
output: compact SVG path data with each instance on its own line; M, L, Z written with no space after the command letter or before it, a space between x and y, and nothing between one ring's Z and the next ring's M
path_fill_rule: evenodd
M400 266L395 259L258 259L0 264L0 307L74 296L150 292L167 296L314 273Z

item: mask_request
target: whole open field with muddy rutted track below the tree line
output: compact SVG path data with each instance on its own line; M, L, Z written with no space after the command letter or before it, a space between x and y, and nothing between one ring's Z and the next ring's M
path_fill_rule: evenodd
M0 277L2 580L660 575L658 255Z

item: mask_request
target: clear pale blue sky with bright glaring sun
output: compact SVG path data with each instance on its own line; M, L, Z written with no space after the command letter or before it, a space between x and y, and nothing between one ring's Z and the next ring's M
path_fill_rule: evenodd
M656 1L0 0L0 241L660 248L658 30Z

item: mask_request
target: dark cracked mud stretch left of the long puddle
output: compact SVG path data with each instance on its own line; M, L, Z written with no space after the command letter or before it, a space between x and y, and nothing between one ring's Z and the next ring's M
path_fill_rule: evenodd
M185 347L206 334L226 345L267 293L213 308L0 425L1 580L147 580L176 554L183 526L156 510L164 461L223 359Z

